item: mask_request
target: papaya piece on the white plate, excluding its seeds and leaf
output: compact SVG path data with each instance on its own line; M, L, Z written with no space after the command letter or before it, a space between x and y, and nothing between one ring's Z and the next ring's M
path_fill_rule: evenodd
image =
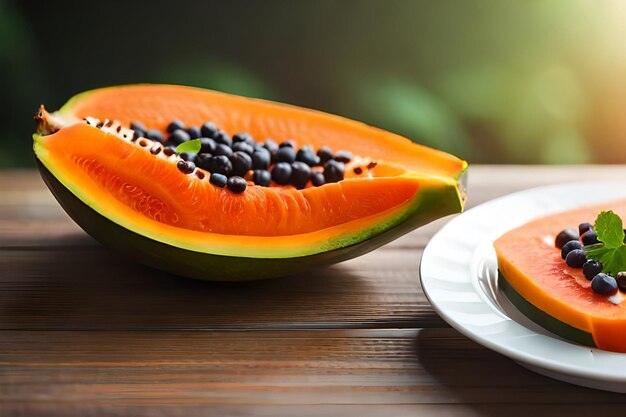
M551 332L599 349L626 352L626 298L591 289L581 268L571 268L554 245L567 227L593 222L598 213L626 215L626 200L557 213L513 229L494 242L500 283L509 300Z

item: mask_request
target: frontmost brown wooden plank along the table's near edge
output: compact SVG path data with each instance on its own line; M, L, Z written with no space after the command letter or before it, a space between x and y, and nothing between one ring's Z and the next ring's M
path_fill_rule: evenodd
M501 415L520 405L592 412L601 403L616 410L626 397L539 376L452 329L4 331L0 403L25 415L44 408L85 415L94 407L148 407L165 415L210 405L256 415L278 405L339 411L365 404L385 406L380 411L419 406L400 413ZM254 412L239 408L252 404ZM300 415L307 408L291 410Z

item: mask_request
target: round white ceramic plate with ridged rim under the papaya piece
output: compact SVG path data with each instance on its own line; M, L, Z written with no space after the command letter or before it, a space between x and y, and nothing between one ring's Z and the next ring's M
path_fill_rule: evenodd
M422 288L452 327L540 374L626 392L626 354L566 341L520 313L498 288L493 241L534 218L626 197L624 183L535 188L490 201L451 220L430 241Z

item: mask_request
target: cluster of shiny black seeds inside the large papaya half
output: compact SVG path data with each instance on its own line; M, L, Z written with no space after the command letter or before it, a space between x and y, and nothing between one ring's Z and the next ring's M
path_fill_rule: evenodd
M141 122L132 122L130 127L135 132L133 140L146 137L162 144L150 148L155 155L160 152L166 156L174 155L178 145L199 138L200 152L179 154L178 169L190 174L196 167L202 168L211 173L211 184L227 187L234 193L245 191L245 178L262 187L268 187L274 181L278 185L291 185L298 189L305 188L309 183L319 187L338 182L344 179L345 164L352 159L352 153L341 150L333 153L328 146L322 146L315 152L311 146L298 149L293 140L277 143L267 138L257 142L247 132L231 137L210 121L201 126L187 126L181 120L172 120L166 128L167 137L160 130L147 129ZM367 168L375 166L376 163L370 163ZM362 169L358 171L360 174Z

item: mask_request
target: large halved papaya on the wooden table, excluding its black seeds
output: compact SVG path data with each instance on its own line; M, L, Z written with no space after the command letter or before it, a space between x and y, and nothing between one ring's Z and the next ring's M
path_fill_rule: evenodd
M114 120L116 128L89 119ZM351 164L373 168L367 175L347 169L343 180L319 187L249 183L235 194L211 184L208 173L181 172L176 155L153 155L150 141L119 133L133 121L164 132L172 119L346 149L355 155ZM105 245L178 275L287 275L364 254L463 209L464 161L314 110L191 87L129 85L79 94L36 120L40 172L69 215Z

